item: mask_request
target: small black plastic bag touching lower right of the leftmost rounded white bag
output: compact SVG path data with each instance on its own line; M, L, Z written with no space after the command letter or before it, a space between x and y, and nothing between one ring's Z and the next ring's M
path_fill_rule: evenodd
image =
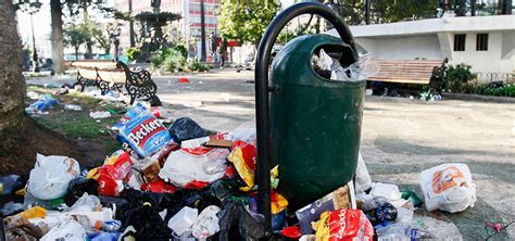
M99 183L92 178L78 177L70 181L64 202L67 206L72 206L77 202L84 193L89 195L99 194Z

